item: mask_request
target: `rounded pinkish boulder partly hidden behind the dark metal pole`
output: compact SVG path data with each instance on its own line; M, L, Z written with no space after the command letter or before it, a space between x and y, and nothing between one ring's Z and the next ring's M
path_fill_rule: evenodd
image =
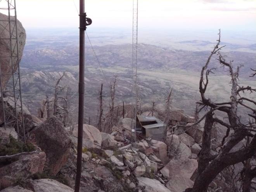
M78 137L78 125L74 126L73 136ZM77 142L77 139L75 139ZM102 135L100 131L92 125L83 125L83 147L95 148L101 147Z

